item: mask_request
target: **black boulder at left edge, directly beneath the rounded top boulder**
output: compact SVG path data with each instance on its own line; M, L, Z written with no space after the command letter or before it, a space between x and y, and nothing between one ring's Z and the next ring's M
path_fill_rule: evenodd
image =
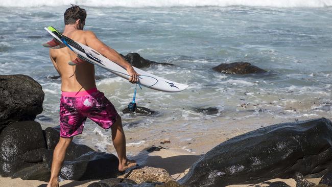
M11 176L41 161L33 150L42 148L46 146L39 123L26 121L10 124L0 134L0 175Z

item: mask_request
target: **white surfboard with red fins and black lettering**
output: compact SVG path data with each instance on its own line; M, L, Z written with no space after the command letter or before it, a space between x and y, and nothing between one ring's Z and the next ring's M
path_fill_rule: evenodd
M89 46L86 46L80 42L74 41L62 35L60 32L58 32L55 28L51 26L44 29L48 31L54 38L51 41L42 44L43 46L52 49L60 49L67 46L70 50L72 50L78 55L78 58L73 60L72 62L69 62L69 65L79 65L79 63L87 61L94 65L105 68L109 72L117 76L129 80L130 76L128 75L128 72L124 67L116 64L115 62L112 62L96 50L93 50ZM145 87L166 92L178 92L188 87L188 85L186 84L177 83L168 79L155 76L136 67L133 68L139 74L139 84Z

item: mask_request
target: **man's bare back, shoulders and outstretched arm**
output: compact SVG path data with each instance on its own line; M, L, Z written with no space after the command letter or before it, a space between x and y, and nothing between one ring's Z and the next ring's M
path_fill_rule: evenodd
M109 48L91 31L83 31L71 29L70 27L63 32L63 35L78 41L82 44L90 46L90 48L100 52L106 58L127 69L129 75L132 76L130 82L136 82L137 73L132 66L126 62L116 51ZM81 63L76 66L69 65L69 61L77 58L77 55L69 48L50 49L50 58L54 67L61 76L62 91L84 91L96 87L94 80L94 65L88 62Z

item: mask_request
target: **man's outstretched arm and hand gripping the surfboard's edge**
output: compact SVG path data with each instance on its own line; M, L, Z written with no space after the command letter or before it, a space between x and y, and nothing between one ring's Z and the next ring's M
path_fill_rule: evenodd
M122 56L118 54L115 50L100 41L92 31L85 31L85 42L86 45L90 48L98 51L109 60L124 67L130 76L129 82L135 83L138 81L138 74L135 72L131 64L128 63L125 59L123 59Z

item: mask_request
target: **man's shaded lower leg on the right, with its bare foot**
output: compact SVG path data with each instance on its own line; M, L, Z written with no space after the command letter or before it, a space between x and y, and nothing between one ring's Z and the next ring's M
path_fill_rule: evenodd
M118 156L118 170L125 171L127 168L136 166L134 160L129 160L126 156L126 136L122 128L122 120L120 115L116 122L111 126L113 145Z

